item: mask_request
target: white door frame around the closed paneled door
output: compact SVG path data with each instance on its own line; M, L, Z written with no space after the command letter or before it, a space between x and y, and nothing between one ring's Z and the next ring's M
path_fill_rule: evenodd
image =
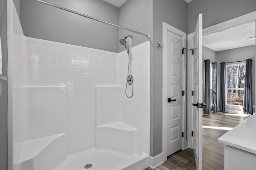
M172 31L173 33L182 35L184 37L184 48L186 48L186 33L183 31L163 22L163 45L167 44L167 31ZM183 48L183 47L182 47ZM163 161L167 160L167 107L168 103L165 102L168 98L167 96L167 48L163 48L163 80L162 80L162 115L163 115L163 137L162 137L162 150L163 150ZM187 148L188 141L186 140L186 50L182 55L182 90L184 90L184 96L182 96L182 132L184 132L184 137L182 138L182 150Z

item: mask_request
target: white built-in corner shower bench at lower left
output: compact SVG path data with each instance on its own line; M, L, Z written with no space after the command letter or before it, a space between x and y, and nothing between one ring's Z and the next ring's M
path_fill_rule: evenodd
M67 156L66 133L30 140L24 143L19 170L52 169Z

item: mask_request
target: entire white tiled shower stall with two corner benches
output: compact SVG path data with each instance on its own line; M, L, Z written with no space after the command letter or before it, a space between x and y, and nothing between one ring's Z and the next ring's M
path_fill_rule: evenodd
M150 41L113 53L25 37L8 19L8 170L142 170L150 154Z

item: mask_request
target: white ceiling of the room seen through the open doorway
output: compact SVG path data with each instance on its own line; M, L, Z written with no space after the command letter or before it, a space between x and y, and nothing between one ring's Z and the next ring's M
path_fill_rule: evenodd
M214 51L255 45L255 22L245 23L203 37L203 45Z

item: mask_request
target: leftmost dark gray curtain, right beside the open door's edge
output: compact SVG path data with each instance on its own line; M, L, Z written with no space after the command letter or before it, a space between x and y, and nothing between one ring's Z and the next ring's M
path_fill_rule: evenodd
M210 115L211 114L211 88L210 88L210 60L204 61L204 103L206 107L204 107L204 114Z

